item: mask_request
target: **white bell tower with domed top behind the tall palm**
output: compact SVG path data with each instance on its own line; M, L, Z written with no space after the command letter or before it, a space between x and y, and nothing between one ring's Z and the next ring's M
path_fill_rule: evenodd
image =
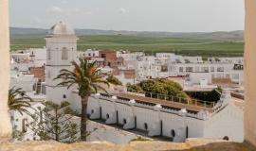
M59 22L46 35L46 99L54 103L68 100L72 90L56 86L61 80L54 80L62 69L72 70L71 61L77 59L77 41L74 29Z

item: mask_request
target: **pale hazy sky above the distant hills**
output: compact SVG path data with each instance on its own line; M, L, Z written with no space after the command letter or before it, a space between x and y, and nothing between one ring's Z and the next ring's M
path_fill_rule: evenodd
M10 26L211 32L243 30L244 0L9 0Z

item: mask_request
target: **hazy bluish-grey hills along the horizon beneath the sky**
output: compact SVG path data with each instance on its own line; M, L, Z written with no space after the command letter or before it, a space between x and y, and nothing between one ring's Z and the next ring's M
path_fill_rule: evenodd
M47 29L10 27L10 34L14 35L46 35ZM153 32L153 31L124 31L100 29L76 29L79 36L84 35L130 35L141 37L182 38L215 41L244 41L244 31L219 32Z

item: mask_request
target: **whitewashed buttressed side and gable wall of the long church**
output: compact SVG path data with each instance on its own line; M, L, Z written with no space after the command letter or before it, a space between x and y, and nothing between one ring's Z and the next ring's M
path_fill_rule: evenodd
M106 124L119 123L124 129L137 128L149 136L162 135L174 142L184 142L187 138L223 139L225 136L230 141L243 141L243 110L231 103L211 117L204 111L192 114L97 97L100 96L90 97L87 113L92 119L105 120Z

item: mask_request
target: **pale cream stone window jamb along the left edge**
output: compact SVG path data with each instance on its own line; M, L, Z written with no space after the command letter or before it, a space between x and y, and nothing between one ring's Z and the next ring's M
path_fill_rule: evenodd
M11 126L8 113L9 91L9 13L8 0L0 0L0 141L9 138Z

